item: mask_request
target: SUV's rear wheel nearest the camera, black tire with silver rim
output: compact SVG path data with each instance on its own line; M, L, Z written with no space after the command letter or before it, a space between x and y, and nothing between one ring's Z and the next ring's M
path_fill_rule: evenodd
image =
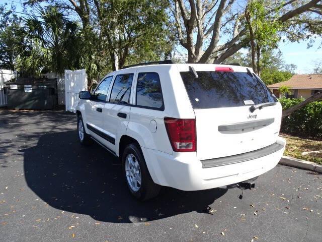
M159 194L160 186L153 182L137 144L126 146L122 155L122 165L127 187L135 198L144 201Z

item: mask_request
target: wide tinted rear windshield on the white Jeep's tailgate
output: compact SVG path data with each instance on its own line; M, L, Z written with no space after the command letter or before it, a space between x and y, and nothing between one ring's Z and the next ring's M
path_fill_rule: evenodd
M244 106L244 101L255 104L277 102L266 85L257 77L244 72L180 72L193 108Z

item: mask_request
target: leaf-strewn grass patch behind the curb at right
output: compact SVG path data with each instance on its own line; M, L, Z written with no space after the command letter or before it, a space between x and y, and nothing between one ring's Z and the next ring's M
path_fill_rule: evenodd
M302 155L302 152L307 151L322 152L321 140L305 139L286 134L280 134L280 136L286 139L284 155L322 164L322 153L310 153L307 155Z

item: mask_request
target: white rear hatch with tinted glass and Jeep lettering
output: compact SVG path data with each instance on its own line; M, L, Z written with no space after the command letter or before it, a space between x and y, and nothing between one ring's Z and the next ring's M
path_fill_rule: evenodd
M196 116L200 160L246 153L276 142L281 105L251 69L190 65L192 70L188 66L179 66L179 71ZM270 104L251 111L252 105L262 103Z

